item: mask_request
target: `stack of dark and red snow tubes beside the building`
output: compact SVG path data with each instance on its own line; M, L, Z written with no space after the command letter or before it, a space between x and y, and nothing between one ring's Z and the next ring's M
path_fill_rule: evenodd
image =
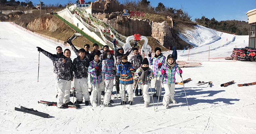
M231 57L226 57L226 60L239 60L239 61L256 61L256 56L249 57L250 52L256 53L256 48L234 48Z

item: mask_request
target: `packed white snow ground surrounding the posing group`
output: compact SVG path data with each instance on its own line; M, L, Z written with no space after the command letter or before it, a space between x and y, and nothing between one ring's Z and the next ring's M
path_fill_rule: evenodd
M114 100L112 108L92 108L82 104L80 109L59 109L37 103L38 100L57 101L57 99L53 86L52 61L42 53L39 82L37 82L36 47L56 53L57 45L10 23L0 22L0 29L0 133L256 133L256 85L237 86L256 81L255 62L222 62L220 59L219 62L201 62L201 66L182 68L183 80L192 79L184 85L190 111L182 85L175 86L175 100L178 104L170 104L169 109L164 109L161 103L156 111L153 103L149 108L143 108L143 103L140 102L141 96L134 96L130 109L123 108L120 99L118 103ZM233 35L225 36L231 39ZM248 41L243 43L247 38L235 36L234 41L219 48L214 45L216 41L208 44L215 48L211 51L215 54L211 58L231 55L234 45L247 46ZM203 47L200 47L200 51L204 51L201 49ZM192 53L195 53L196 48L194 49ZM199 48L197 49L199 52ZM190 53L191 51L193 50L190 50ZM185 52L187 53L187 50ZM178 57L179 60L187 60L185 52L184 56ZM202 58L207 56L205 60L208 61L207 52L198 52L189 58L204 60ZM182 55L182 51L179 51L178 55ZM75 57L74 52L71 51L72 60ZM220 84L232 80L235 84L220 87ZM180 76L176 75L176 81L181 81ZM212 81L213 85L197 86L198 81ZM153 83L151 86L154 90ZM73 101L72 97L71 101ZM155 99L154 102L156 105L157 100ZM14 107L20 106L34 108L48 113L51 117L42 118L14 111Z

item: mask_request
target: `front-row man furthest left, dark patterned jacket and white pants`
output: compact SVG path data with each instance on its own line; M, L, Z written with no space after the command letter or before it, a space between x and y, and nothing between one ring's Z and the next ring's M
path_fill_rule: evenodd
M70 87L71 81L73 81L73 63L70 58L71 52L69 49L65 49L64 55L59 58L56 66L58 68L58 100L57 106L58 108L65 108L64 104L73 104L70 101L69 94L70 94Z

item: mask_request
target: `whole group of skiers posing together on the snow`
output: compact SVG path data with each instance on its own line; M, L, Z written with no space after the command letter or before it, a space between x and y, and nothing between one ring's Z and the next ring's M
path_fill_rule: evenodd
M121 97L121 105L127 103L132 105L133 89L135 96L143 95L141 101L144 101L144 106L148 107L150 104L150 96L148 93L151 88L151 80L155 83L155 91L153 97L161 100L161 85L165 89L163 105L165 108L169 107L169 101L177 103L174 100L175 89L175 72L182 74L182 70L176 63L177 52L166 57L161 53L161 48L155 49L155 56L142 59L139 54L137 43L130 48L126 53L122 47L116 48L116 40L113 41L115 51L111 54L109 47L105 45L103 50L98 50L98 44L93 44L93 51L89 52L90 45L84 45L84 48L77 49L71 42L67 40L72 50L76 54L76 58L71 60L71 51L58 46L56 48L57 54L51 54L44 49L37 47L38 51L49 57L53 62L55 91L57 98L57 107L66 108L64 104L73 104L70 101L70 87L71 81L74 78L76 89L75 104L84 103L86 106L89 102L92 106L98 106L101 103L100 94L104 94L104 107L112 107L111 100L112 89L114 86L114 79L116 81L116 95ZM130 53L134 56L128 62L127 56ZM165 61L166 60L166 61ZM153 65L153 69L149 68ZM74 73L73 73L74 72ZM91 90L88 91L88 73L90 74ZM140 92L138 91L140 87ZM120 90L121 89L121 90ZM127 92L127 95L125 94ZM91 96L90 96L91 94ZM96 101L98 103L96 103Z

